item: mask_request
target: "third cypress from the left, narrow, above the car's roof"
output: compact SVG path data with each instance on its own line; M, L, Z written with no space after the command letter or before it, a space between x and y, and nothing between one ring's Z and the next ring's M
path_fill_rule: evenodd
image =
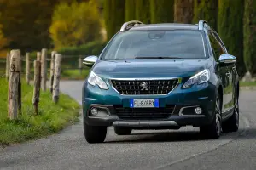
M150 23L150 3L148 0L136 0L136 19Z

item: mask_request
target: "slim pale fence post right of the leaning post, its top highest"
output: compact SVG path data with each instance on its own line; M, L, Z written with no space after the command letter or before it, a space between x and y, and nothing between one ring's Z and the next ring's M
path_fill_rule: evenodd
M47 80L47 49L42 49L41 55L41 86L42 90L46 91L46 80Z

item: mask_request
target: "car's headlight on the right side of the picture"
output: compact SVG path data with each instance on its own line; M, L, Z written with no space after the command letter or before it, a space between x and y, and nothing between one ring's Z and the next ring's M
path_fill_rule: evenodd
M201 84L204 82L208 82L210 79L210 71L205 69L195 74L195 76L190 77L187 82L183 84L183 88L191 88L194 84Z

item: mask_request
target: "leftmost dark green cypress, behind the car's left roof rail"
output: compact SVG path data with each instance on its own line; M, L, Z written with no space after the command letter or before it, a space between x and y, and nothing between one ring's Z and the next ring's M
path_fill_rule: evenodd
M125 0L105 0L104 20L110 40L125 22Z

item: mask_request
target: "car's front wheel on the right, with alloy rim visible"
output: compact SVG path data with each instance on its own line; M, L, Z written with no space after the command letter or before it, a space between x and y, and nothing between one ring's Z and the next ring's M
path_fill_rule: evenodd
M200 133L206 136L208 139L218 139L221 134L221 103L219 100L219 94L216 97L214 118L210 125L200 127Z

